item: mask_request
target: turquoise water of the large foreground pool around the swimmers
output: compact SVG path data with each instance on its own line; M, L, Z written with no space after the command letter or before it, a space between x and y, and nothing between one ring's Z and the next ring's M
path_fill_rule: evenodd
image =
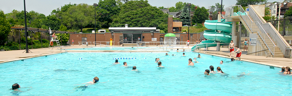
M197 53L168 52L176 56L164 56L165 52L153 53L88 53L68 52L38 58L0 64L0 95L13 95L9 90L14 83L20 84L18 95L290 95L291 76L279 74L280 69L253 63L201 54L199 63L187 66L188 59ZM56 58L56 59L54 59ZM82 59L80 59L82 58ZM113 65L113 58L121 64ZM146 58L146 59L144 59ZM160 58L166 68L154 63ZM220 65L220 61L224 65ZM127 62L129 68L119 67ZM213 65L226 74L204 75ZM134 72L137 66L140 72ZM246 75L240 75L245 72ZM248 74L250 73L250 74ZM99 77L99 82L88 87L85 84ZM80 87L81 86L81 87ZM82 87L83 86L83 87ZM30 89L30 90L29 90ZM26 91L28 90L28 91Z

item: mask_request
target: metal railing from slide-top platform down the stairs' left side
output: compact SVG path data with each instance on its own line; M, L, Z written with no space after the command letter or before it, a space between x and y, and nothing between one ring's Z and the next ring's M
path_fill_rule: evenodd
M233 5L228 8L226 8L226 15L234 16L234 15L240 15L240 17L244 20L248 28L251 30L251 32L257 32L260 38L263 40L269 51L272 50L273 46L276 46L270 36L266 33L266 31L263 29L263 27L259 24L258 21L253 22L251 18L246 14L244 9L240 5ZM238 11L238 12L236 12ZM235 14L239 13L239 14ZM272 52L272 55L274 55L274 52Z

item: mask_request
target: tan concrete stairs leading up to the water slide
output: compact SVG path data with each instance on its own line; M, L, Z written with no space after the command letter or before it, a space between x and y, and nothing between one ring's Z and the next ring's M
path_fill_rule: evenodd
M249 15L246 15L246 16L250 17ZM254 22L252 18L251 18L251 21L247 20L247 22L245 22L244 19L241 16L239 16L239 19L240 19L240 21L242 22L242 24L244 25L244 27L246 28L246 30L249 33L252 33L252 31L248 28L248 25L247 24L249 24L250 26L252 26L252 30L254 31L254 33L257 33L257 31L259 31L260 35L264 35L264 33L262 33L260 30L258 30L258 26L255 23L251 23L251 22ZM272 42L277 46L276 42L273 41L273 39L270 37L269 34L267 34L267 35L271 38L272 42L266 42L267 45L265 44L265 42L263 41L263 39L269 41L270 38L269 37L265 37L265 38L263 37L263 39L262 39L258 33L257 33L257 35L258 35L258 38L257 39L260 40L260 45L264 49L268 49L267 45L273 45ZM241 41L241 42L243 42L243 41ZM241 49L242 48L244 48L244 46L241 47ZM281 50L280 50L279 47L275 47L274 50L272 49L272 47L270 47L270 48L271 48L272 52L274 52L274 57L284 57L284 54L281 52ZM268 54L269 53L269 50L266 50L265 52ZM270 53L269 54L269 57L273 57L273 55Z

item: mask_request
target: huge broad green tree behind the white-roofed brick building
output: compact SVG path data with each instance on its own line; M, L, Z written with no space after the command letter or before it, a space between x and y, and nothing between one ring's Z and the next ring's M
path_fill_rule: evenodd
M164 14L156 7L150 6L148 1L128 1L120 10L118 15L114 15L110 27L156 27L167 31L167 14Z

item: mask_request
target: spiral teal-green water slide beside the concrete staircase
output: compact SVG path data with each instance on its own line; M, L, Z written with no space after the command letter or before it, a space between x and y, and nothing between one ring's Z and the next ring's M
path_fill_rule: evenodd
M205 20L205 27L212 30L204 31L204 37L208 40L203 41L201 43L214 43L214 44L197 44L192 47L192 49L204 48L204 47L214 47L217 46L216 41L220 41L220 43L229 43L231 40L230 33L232 32L232 24L231 22L225 22L225 19L221 19L221 22L217 22L218 20ZM220 30L221 33L218 33L217 30ZM222 44L221 44L222 45Z

